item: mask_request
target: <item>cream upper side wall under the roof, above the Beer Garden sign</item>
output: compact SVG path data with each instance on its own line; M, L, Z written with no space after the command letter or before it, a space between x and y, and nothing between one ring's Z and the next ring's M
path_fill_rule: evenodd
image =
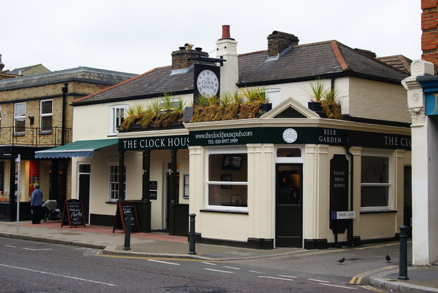
M403 86L350 78L351 116L411 123Z

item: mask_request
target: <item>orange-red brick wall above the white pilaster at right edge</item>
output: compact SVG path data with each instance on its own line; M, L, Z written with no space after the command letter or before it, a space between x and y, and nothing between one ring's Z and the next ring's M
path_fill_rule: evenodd
M437 0L422 0L422 59L438 66Z

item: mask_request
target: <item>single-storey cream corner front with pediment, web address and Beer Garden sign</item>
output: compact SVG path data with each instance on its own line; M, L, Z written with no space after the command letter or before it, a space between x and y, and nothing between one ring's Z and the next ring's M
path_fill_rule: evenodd
M301 108L305 118L284 118L294 105L289 99L259 119L185 124L197 241L322 249L394 240L409 128L314 118Z

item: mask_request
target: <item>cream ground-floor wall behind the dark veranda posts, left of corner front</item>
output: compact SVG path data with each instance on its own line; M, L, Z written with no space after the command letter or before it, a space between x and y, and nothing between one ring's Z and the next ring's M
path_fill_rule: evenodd
M183 173L188 173L188 150L182 149L177 153L179 163L179 202L188 203L188 199L183 199ZM108 202L109 192L109 166L118 165L117 146L110 146L107 149L96 151L92 159L73 158L72 172L72 194L77 199L77 164L79 162L91 163L90 177L90 214L101 214L115 216L116 205ZM151 181L157 181L157 199L151 200L151 229L164 229L166 226L166 163L170 162L170 151L151 152ZM126 166L126 199L142 199L142 152L125 152Z

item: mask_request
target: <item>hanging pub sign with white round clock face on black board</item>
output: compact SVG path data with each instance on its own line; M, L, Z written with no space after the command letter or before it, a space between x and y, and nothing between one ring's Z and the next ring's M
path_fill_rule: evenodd
M204 97L219 97L220 95L220 66L205 64L194 65L193 97L194 105L199 94Z

